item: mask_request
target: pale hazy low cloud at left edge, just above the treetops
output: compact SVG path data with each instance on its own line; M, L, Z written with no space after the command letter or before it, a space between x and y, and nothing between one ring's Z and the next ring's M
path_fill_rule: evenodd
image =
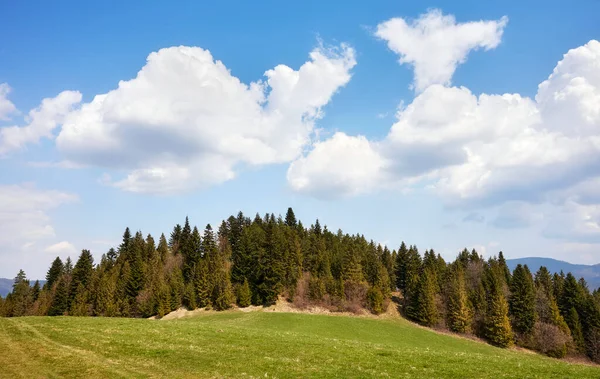
M30 184L0 185L0 276L14 275L20 268L34 265L55 237L49 212L77 199L74 194ZM61 246L66 245L59 244L48 253L57 253Z

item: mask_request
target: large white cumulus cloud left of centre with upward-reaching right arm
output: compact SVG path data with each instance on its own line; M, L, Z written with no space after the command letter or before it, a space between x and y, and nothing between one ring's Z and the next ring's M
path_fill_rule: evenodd
M207 50L161 49L136 78L69 114L57 146L69 161L127 171L110 183L128 191L220 183L239 165L296 158L355 63L346 45L320 47L298 70L279 65L244 84Z

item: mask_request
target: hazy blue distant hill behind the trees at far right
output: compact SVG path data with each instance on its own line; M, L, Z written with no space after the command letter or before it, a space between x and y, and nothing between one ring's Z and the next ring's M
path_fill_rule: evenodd
M600 264L578 265L557 259L538 257L507 259L506 264L511 271L518 264L527 265L534 274L540 266L546 266L551 273L560 272L561 270L565 274L571 272L577 279L583 277L587 281L590 290L600 287Z

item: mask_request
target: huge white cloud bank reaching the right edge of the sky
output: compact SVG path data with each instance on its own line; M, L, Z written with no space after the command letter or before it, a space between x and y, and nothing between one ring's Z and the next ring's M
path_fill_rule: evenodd
M357 149L359 140L371 158L352 173L352 181L341 180L349 175L340 170L343 166L331 167L344 159L339 152ZM326 146L335 148L324 151ZM321 141L293 163L288 179L293 189L314 196L412 180L433 189L450 206L551 203L558 207L554 214L564 213L572 224L579 220L583 225L570 228L573 235L589 239L590 233L600 235L589 216L600 204L595 194L599 162L600 42L592 40L564 55L534 99L475 95L464 87L433 84L399 110L383 140L345 135L335 144ZM377 185L371 178L379 179ZM329 183L347 187L331 189ZM501 215L498 225L515 224L517 213Z

